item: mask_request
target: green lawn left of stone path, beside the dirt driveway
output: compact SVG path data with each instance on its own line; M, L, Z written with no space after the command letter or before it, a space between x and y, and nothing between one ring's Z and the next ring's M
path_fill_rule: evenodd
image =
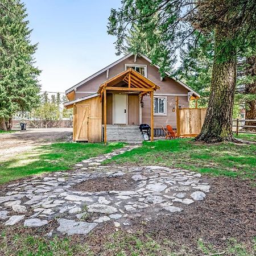
M0 162L0 183L43 172L69 170L74 164L106 154L123 143L53 143L41 146L15 158Z

